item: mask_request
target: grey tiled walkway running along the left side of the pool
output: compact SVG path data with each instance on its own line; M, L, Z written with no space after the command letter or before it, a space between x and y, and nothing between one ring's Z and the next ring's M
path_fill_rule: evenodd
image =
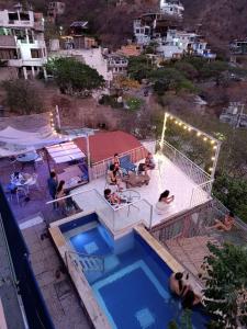
M31 252L31 263L46 306L57 329L89 329L78 295L63 270L44 223L22 230ZM13 327L14 328L14 327ZM19 327L15 327L19 328ZM14 329L15 329L14 328Z

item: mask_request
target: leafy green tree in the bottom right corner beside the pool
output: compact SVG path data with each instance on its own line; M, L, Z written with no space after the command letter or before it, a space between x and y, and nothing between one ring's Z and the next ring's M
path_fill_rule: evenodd
M247 249L209 243L205 258L204 303L218 328L247 326Z

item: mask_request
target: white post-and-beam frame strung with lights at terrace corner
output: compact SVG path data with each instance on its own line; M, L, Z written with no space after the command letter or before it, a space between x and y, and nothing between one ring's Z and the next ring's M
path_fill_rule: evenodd
M214 179L214 174L215 174L215 170L217 167L217 160L218 160L218 155L220 155L220 150L221 150L221 140L214 138L213 136L200 131L199 128L186 123L184 121L182 121L181 118L179 118L178 116L169 113L169 112L165 112L164 114L164 124L162 124L162 133L161 133L161 140L160 140L160 147L161 150L164 149L164 141L165 141L165 137L166 137L166 129L167 129L167 121L168 120L172 120L175 121L173 123L183 127L184 131L188 132L195 132L197 133L197 137L202 137L204 141L206 141L209 139L211 146L213 146L213 150L214 155L212 157L212 167L211 167L211 179Z

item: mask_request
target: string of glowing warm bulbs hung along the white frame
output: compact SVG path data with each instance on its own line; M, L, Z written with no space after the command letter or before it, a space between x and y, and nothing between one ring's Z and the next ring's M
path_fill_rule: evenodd
M191 125L184 123L183 121L181 121L177 116L175 116L170 113L167 113L167 112L165 113L165 127L164 127L164 129L166 129L167 120L169 120L170 123L173 123L175 125L178 125L179 127L181 127L186 132L195 133L195 136L198 138L201 138L201 140L203 140L204 143L210 144L210 146L212 147L212 151L213 151L213 155L211 157L211 160L213 162L212 162L212 166L209 168L209 172L212 173L213 170L215 170L215 167L216 167L216 161L217 161L217 157L218 157L221 141L215 139L214 137L199 131L198 128L192 127Z

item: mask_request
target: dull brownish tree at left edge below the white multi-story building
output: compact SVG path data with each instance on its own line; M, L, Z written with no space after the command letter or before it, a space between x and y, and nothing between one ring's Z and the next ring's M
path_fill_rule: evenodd
M10 111L19 114L41 113L44 102L40 89L29 80L8 80L2 82L5 103Z

